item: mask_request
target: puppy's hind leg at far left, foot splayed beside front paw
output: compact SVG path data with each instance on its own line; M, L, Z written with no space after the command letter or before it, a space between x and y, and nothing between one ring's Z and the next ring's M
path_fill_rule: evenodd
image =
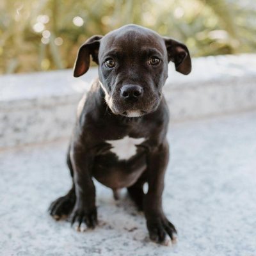
M67 165L70 170L71 177L73 179L74 172L72 168L72 164L70 161L69 156L69 149L67 154ZM67 195L61 196L60 198L56 199L49 207L49 213L55 220L60 220L67 218L68 215L72 212L74 205L76 203L76 193L75 193L75 186L74 181L72 184L72 188L68 191Z

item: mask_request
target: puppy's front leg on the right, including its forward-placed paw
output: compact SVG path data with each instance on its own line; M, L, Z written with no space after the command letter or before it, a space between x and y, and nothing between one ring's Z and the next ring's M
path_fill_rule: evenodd
M173 240L177 233L175 227L166 218L162 207L164 173L168 164L168 142L148 152L148 192L143 204L150 239L157 243L166 241L166 234Z

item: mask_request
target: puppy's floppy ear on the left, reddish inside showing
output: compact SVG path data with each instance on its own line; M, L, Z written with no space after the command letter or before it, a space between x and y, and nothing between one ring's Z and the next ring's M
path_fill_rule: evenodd
M92 36L79 48L74 65L74 77L82 76L87 72L90 67L90 55L92 55L92 60L99 64L98 53L102 37L100 35Z

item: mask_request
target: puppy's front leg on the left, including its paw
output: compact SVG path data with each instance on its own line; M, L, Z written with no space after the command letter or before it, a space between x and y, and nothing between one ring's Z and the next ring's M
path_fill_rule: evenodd
M92 180L93 154L84 148L72 148L70 159L74 170L76 204L70 216L72 225L82 223L88 228L97 225L97 209L95 205L95 186Z

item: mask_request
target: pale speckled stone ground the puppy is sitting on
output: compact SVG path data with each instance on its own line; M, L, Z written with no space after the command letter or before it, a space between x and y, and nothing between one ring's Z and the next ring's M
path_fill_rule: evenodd
M123 191L97 184L100 225L77 233L46 209L70 186L67 141L0 152L1 255L256 255L256 113L170 126L164 211L173 246L148 241L145 220Z

